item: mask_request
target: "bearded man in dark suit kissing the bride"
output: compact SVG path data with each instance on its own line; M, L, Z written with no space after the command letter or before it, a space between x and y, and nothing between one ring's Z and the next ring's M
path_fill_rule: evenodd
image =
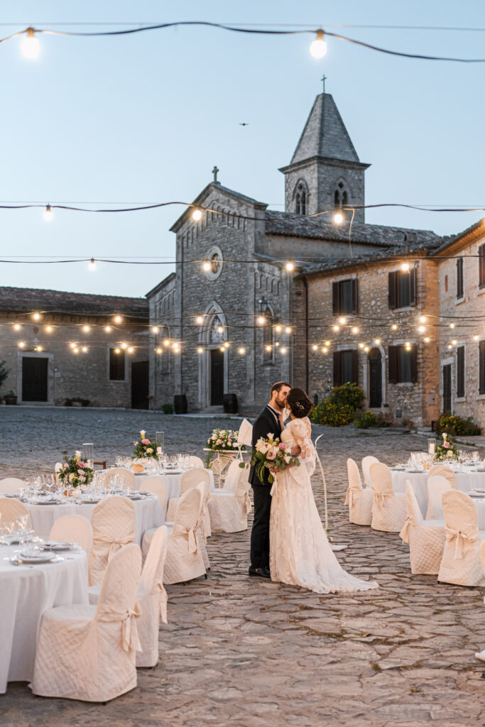
M270 401L261 411L252 427L252 449L260 437L268 437L273 433L281 438L283 431L283 411L286 395L291 386L284 381L273 384L270 391ZM297 448L300 449L300 448ZM294 451L294 454L299 454ZM268 480L269 471L264 470L264 482L256 474L256 468L249 470L249 482L254 494L254 522L251 531L251 566L249 575L260 578L270 578L270 510L271 510L271 483Z

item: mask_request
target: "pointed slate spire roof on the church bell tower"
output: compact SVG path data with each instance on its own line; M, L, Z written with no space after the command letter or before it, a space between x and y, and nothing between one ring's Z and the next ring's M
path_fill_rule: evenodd
M290 164L315 156L359 161L342 117L329 93L321 93L316 97Z

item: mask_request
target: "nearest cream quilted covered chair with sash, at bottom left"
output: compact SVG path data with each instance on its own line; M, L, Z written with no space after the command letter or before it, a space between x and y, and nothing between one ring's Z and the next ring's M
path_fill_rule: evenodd
M33 694L107 702L137 686L141 560L135 544L113 555L97 606L57 606L44 611Z

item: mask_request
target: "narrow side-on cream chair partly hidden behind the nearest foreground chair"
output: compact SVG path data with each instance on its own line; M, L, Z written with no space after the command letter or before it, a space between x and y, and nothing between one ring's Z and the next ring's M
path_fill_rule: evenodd
M141 650L137 652L137 667L154 667L159 661L160 619L167 623L167 591L164 589L164 564L167 557L167 527L156 529L145 558L137 601L141 614L137 621ZM89 588L89 603L96 605L100 586Z

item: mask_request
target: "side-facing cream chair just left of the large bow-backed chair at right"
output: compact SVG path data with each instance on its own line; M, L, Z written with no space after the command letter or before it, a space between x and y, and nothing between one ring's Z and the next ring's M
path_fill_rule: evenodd
M436 575L445 542L444 522L422 518L414 488L409 480L406 480L406 513L399 537L403 542L409 543L411 572Z

